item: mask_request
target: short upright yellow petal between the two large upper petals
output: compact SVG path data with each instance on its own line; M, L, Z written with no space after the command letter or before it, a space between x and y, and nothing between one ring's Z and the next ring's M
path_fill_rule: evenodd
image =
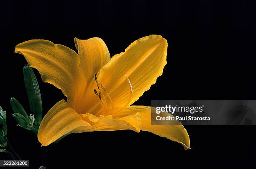
M110 60L108 47L99 37L93 37L88 40L79 40L75 37L74 41L81 57L80 67L82 67L87 81L91 82L95 73Z

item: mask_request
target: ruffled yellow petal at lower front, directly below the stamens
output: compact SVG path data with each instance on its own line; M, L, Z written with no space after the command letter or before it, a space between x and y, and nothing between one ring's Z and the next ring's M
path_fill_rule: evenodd
M87 132L93 131L114 131L130 129L139 132L141 128L141 115L138 112L123 116L122 114L96 117L93 114L80 114L81 117L92 125Z

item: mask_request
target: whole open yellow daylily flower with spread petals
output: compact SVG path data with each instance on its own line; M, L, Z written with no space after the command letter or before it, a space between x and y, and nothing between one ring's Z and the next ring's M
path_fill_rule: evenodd
M71 133L131 129L152 132L189 148L182 125L151 125L151 107L131 106L162 75L167 55L163 37L143 37L111 59L101 38L74 41L78 54L48 40L28 40L15 47L44 82L67 97L40 124L38 140L43 146Z

